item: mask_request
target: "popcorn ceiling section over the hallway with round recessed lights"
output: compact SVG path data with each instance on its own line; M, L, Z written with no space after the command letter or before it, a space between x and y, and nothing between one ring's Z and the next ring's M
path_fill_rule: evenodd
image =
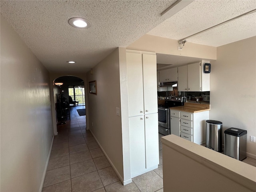
M175 0L1 0L1 14L51 72L88 71L114 48L127 47L164 21ZM89 20L88 29L68 24ZM75 60L76 64L66 61Z

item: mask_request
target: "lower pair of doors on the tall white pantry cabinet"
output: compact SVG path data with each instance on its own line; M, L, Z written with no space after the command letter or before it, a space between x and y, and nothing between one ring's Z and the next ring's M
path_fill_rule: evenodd
M129 118L131 178L158 168L158 113Z

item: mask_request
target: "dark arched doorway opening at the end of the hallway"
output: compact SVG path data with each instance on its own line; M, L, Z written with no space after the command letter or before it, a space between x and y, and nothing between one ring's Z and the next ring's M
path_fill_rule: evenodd
M58 133L67 131L74 123L86 129L84 80L61 76L53 81L53 90Z

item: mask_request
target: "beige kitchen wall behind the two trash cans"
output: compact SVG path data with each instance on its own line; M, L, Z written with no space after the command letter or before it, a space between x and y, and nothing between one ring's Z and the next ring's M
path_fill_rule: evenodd
M210 119L221 121L223 132L247 130L247 156L256 158L256 36L217 48L210 88Z

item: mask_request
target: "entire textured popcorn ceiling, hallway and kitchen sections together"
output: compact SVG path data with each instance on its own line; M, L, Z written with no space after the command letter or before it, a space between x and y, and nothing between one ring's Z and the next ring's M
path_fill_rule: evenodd
M127 47L146 33L179 40L256 9L256 0L195 0L171 18L161 18L175 1L1 0L0 11L50 72L86 72L116 47ZM73 28L68 24L73 17L86 18L92 26ZM250 14L188 42L220 46L255 36L255 22L256 14ZM162 64L179 60L162 54L157 59Z

